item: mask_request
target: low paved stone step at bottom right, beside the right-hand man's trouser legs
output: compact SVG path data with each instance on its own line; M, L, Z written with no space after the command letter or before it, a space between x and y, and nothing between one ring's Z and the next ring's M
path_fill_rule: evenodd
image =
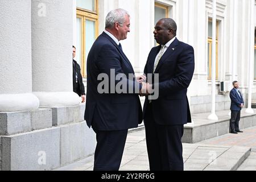
M184 145L184 150L186 146ZM185 171L236 171L250 155L250 147L240 146L197 146L185 160Z

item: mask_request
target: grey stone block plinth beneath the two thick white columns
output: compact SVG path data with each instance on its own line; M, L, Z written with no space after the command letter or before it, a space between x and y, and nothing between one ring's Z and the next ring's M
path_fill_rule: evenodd
M1 170L51 170L93 155L85 105L0 113Z

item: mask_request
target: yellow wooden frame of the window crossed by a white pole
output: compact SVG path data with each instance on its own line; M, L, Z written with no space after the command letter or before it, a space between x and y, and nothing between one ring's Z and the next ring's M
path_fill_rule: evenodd
M212 22L212 18L208 18L208 23ZM219 31L219 26L220 22L216 20L216 80L218 80L218 31ZM208 31L209 31L209 26L208 26ZM212 38L210 38L207 35L207 45L209 44L209 75L207 75L207 79L211 80L212 79ZM207 60L208 64L208 60Z

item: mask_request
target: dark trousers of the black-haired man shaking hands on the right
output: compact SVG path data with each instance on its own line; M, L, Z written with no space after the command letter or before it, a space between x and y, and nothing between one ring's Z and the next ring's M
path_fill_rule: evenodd
M152 106L148 105L144 119L148 160L151 171L183 171L181 137L184 125L158 125Z

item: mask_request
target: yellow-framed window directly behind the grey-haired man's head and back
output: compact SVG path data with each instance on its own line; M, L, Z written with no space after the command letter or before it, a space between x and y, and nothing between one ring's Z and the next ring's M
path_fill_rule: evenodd
M86 60L98 35L98 0L76 0L76 60L82 77L86 77Z

